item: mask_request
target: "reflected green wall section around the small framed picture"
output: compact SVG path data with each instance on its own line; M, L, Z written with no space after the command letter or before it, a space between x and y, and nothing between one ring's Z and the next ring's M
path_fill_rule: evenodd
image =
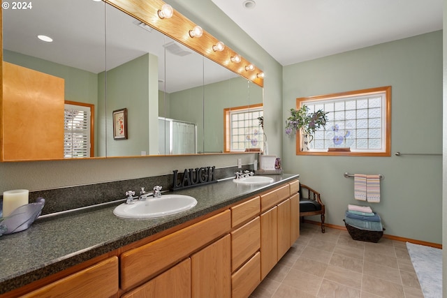
M103 84L104 75L99 74L98 98L107 98L107 107L99 105L98 110L106 115L107 136L104 136L105 131L100 131L98 139L103 140L101 144L106 140L107 156L139 156L142 151L158 154L158 58L144 54L108 70L107 88ZM105 89L107 94L104 94ZM123 108L128 113L128 139L114 140L112 112ZM105 153L102 147L100 151Z

